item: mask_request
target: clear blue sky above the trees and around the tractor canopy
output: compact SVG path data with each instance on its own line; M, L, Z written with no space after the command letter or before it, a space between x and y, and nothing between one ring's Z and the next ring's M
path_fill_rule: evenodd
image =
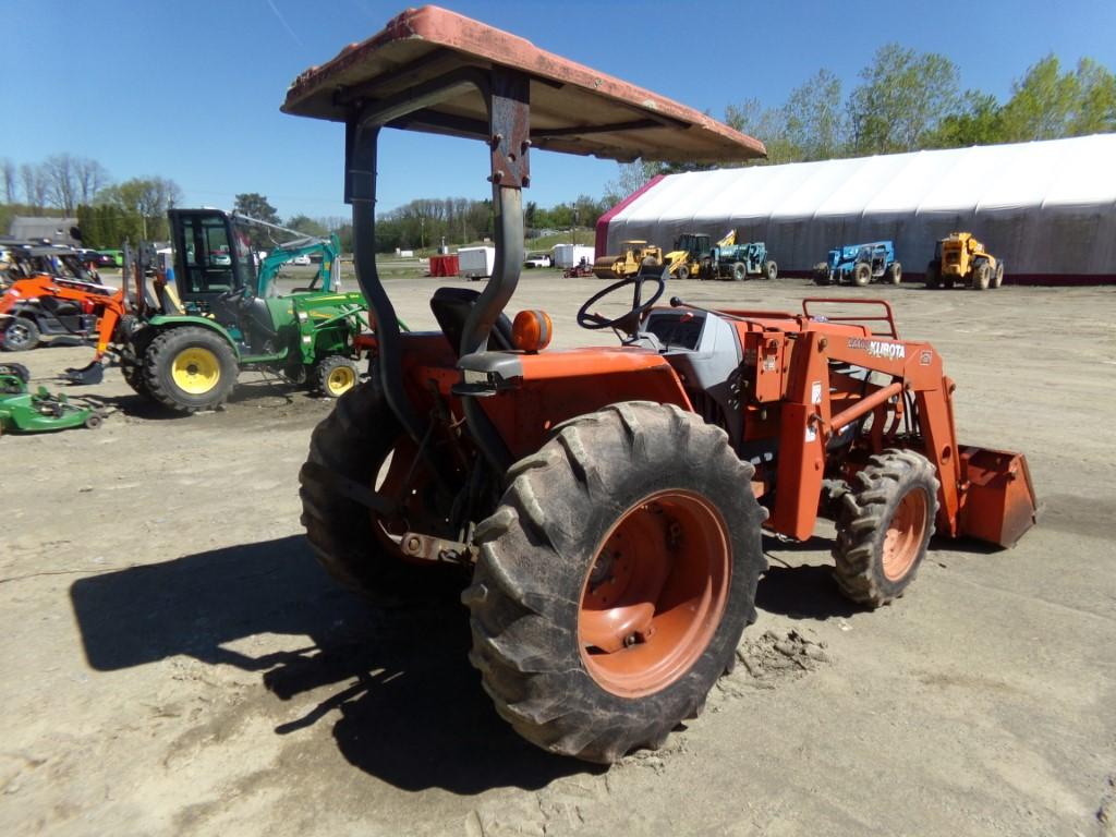
M537 46L720 117L756 97L769 106L819 68L845 93L887 41L937 51L962 87L1001 99L1054 52L1116 68L1112 0L895 3L448 0L443 6ZM162 175L186 205L228 208L260 192L280 215L346 215L344 128L279 113L287 86L403 3L377 0L0 0L4 125L0 157L38 163L69 152L117 181ZM763 137L760 137L762 140ZM415 198L484 198L480 143L388 131L379 209ZM536 153L527 200L599 195L616 164Z

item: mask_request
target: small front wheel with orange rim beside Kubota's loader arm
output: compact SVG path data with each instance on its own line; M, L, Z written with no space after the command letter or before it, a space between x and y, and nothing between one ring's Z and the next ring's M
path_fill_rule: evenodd
M841 591L868 607L889 604L914 580L934 533L937 478L912 451L869 459L840 499L833 555Z

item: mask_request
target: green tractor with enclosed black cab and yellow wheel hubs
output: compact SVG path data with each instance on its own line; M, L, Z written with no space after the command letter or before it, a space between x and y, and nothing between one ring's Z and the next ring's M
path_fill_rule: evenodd
M193 413L222 404L241 369L278 373L329 397L357 383L356 338L367 328L367 304L360 294L337 289L336 238L280 244L257 269L247 224L261 222L211 209L169 215L176 294L156 282L158 304L140 302L121 352L133 389ZM309 287L279 295L279 267L312 253L320 253L321 267Z

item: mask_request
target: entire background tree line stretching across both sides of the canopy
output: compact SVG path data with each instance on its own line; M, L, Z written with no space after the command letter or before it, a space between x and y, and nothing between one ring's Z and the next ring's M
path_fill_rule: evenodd
M820 69L791 90L778 107L744 99L725 108L730 126L759 137L766 160L749 165L831 160L969 145L1055 140L1116 131L1116 76L1090 58L1064 68L1047 56L1012 84L1006 102L977 89L961 88L953 61L936 52L917 52L898 44L881 47L860 70L859 83L844 95L839 78ZM694 164L636 162L622 164L604 195L542 208L525 206L525 225L532 231L590 227L609 206L653 175L713 167ZM182 190L166 177L134 177L113 183L95 160L55 154L41 163L16 165L0 161L3 196L0 229L13 214L77 214L88 247L118 247L125 239L165 240L166 210L179 204ZM256 192L235 196L234 209L263 221L281 223L267 198ZM336 232L352 251L352 224L343 218L312 219L298 214L287 227L307 234ZM270 240L263 232L260 249ZM490 200L417 199L377 215L381 251L430 249L442 243L468 244L494 238Z

